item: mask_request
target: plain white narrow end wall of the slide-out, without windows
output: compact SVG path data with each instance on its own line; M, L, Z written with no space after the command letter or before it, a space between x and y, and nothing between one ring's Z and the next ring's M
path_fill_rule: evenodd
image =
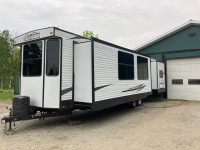
M74 101L92 103L91 42L74 45Z

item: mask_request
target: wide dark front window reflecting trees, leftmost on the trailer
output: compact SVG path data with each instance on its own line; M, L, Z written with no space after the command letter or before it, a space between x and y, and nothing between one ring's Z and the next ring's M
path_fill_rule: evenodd
M23 76L41 76L42 42L24 45Z

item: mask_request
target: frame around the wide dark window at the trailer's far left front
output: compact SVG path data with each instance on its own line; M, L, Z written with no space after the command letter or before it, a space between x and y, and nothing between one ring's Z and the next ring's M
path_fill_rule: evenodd
M36 43L36 42L39 42L39 43L41 43L41 45L42 45L42 48L41 48L41 55L42 55L42 57L41 57L41 72L40 72L40 75L24 75L24 46L25 45L30 45L30 44L33 44L33 43ZM43 75L43 49L44 49L44 46L43 46L43 41L42 40L36 40L36 41L31 41L31 42L28 42L28 43L25 43L25 44L23 44L22 45L22 51L23 51L23 53L21 54L21 56L22 56L22 59L21 59L21 75L23 76L23 77L41 77L42 75Z

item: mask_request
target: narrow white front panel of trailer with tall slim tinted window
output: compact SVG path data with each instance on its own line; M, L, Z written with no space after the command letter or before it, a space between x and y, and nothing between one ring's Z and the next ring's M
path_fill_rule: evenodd
M44 108L60 108L60 40L46 41Z

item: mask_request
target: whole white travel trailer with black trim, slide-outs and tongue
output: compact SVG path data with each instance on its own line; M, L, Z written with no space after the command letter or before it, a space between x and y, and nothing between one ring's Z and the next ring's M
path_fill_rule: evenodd
M127 48L56 27L22 34L14 45L21 49L21 81L20 96L13 97L10 115L2 119L9 129L13 121L75 109L135 107L152 94L151 58ZM160 85L158 90L165 87Z

